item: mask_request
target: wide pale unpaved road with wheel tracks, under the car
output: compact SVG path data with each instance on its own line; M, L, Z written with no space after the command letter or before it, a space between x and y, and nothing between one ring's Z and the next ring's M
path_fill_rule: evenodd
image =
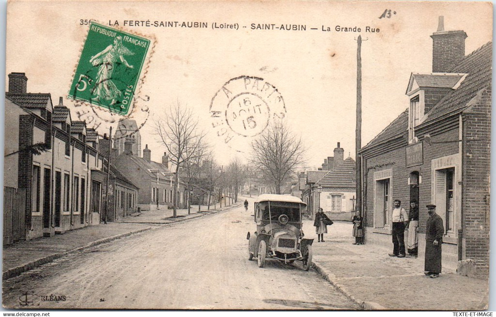
M301 262L267 260L259 268L256 261L248 261L246 236L255 227L249 202L248 212L240 206L159 227L30 270L3 283L3 305L24 309L359 309L313 269L304 271ZM21 306L26 301L36 306Z

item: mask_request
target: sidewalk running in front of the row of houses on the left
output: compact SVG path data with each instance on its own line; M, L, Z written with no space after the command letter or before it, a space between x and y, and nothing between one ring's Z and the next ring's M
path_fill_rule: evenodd
M187 214L187 209L178 209L177 218L172 217L172 209L142 211L119 221L69 230L62 235L55 235L51 238L37 238L14 243L4 247L2 250L2 278L5 280L17 276L38 265L49 263L69 253L90 248L101 243L159 228L162 225L231 209L236 206L239 205L210 211L206 211L206 206L202 206L200 213L198 213L198 206L194 206L195 208L191 208L190 214ZM210 208L213 208L213 206Z

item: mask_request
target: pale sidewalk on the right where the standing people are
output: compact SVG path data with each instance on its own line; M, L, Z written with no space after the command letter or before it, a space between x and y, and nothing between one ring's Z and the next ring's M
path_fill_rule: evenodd
M424 275L424 257L389 257L382 246L353 245L353 225L334 222L325 242L317 242L313 221L304 220L305 235L314 238L312 262L327 280L364 309L483 310L488 305L488 280L458 275L442 267L439 278ZM392 248L392 243L391 243Z

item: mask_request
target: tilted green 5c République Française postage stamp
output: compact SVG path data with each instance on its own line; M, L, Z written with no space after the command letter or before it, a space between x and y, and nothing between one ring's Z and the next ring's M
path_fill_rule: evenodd
M90 22L69 97L126 115L150 40Z

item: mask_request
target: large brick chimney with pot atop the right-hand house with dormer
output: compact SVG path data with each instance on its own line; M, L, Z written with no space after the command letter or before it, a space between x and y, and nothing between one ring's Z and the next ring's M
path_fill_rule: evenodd
M439 17L437 31L431 35L433 39L433 72L449 71L465 56L464 31L444 31L444 17Z

